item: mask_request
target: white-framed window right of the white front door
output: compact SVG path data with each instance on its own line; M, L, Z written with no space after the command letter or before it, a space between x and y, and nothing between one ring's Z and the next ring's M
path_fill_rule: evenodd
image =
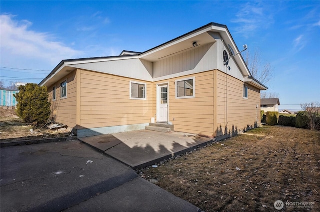
M175 98L194 98L194 77L175 80Z

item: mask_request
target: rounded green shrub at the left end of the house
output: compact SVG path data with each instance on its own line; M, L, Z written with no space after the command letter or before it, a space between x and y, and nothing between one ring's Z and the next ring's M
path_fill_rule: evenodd
M43 126L50 116L50 102L46 87L28 83L18 87L14 94L17 101L16 113L26 123L35 127Z

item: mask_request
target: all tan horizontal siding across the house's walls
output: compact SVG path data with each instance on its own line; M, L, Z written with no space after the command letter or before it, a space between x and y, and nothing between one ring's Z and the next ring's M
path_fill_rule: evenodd
M191 77L195 97L176 99L175 80ZM67 95L61 99L65 79ZM146 83L146 100L130 99L130 81ZM253 127L256 119L259 123L259 90L248 85L248 98L243 98L243 82L219 70L149 82L77 69L48 88L52 116L77 129L148 123L156 113L156 86L163 83L168 83L168 121L175 131L219 136Z

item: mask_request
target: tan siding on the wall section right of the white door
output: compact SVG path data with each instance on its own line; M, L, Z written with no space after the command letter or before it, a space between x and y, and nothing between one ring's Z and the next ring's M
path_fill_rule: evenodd
M193 76L195 77L195 98L175 99L175 80ZM213 71L172 78L163 82L169 82L168 118L174 125L174 130L211 136L214 117ZM156 83L160 84L161 81Z

